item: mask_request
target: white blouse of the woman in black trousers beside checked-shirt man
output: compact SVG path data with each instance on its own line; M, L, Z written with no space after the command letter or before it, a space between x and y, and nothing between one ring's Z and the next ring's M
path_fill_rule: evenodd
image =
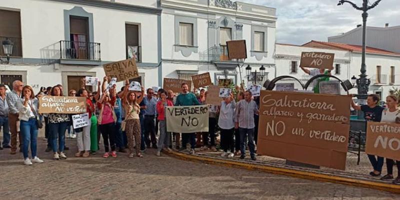
M221 109L219 111L219 119L218 126L222 129L231 129L234 127L234 108L236 107L236 103L230 101L229 104L226 104L225 101L221 102Z

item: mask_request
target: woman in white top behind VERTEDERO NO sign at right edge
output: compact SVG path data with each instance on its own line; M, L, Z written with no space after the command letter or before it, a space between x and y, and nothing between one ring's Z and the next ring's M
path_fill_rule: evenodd
M400 109L397 108L398 98L395 95L388 95L386 97L386 105L382 111L382 117L380 122L386 123L400 123ZM387 174L381 177L381 180L390 180L393 179L393 164L394 160L386 157L386 168ZM400 161L396 161L397 165L397 177L393 180L394 184L400 184Z

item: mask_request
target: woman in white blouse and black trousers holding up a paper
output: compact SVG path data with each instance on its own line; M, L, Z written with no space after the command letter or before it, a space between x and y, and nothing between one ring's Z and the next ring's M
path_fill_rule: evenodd
M236 103L234 102L233 94L230 93L230 97L223 98L221 102L221 108L219 111L218 126L221 129L221 147L223 153L221 156L233 157L233 133L234 133L234 108ZM228 152L230 149L230 152Z

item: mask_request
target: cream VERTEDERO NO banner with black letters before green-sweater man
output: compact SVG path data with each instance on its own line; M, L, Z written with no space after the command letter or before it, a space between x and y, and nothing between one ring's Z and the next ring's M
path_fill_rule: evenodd
M167 106L165 116L168 132L208 131L208 105Z

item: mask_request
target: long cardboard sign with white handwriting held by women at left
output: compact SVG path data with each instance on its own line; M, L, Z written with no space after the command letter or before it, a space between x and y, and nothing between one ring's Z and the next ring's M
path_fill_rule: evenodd
M77 114L86 112L86 98L75 96L41 96L39 113Z

